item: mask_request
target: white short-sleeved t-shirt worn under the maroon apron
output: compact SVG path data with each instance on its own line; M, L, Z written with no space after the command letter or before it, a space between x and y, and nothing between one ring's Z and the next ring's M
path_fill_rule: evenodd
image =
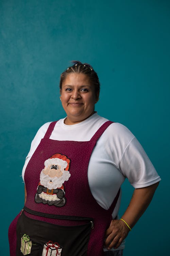
M50 139L89 141L106 121L108 119L97 113L75 125L65 125L64 119L60 119ZM41 139L44 138L50 123L40 127L31 143L31 149L22 170L23 180L28 162ZM119 123L113 123L98 139L88 165L89 187L101 207L109 209L125 178L128 178L134 188L150 186L160 181L147 154L131 131ZM121 193L113 218L118 214L120 199Z

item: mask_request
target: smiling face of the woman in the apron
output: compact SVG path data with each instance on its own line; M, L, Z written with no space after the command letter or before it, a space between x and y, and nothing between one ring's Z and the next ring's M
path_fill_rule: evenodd
M61 101L67 114L65 124L82 122L94 113L95 88L87 75L70 73L62 83Z

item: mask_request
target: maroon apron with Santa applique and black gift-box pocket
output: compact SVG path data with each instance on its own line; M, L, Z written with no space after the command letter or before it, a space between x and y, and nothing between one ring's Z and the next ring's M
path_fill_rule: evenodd
M90 141L57 141L52 122L24 175L27 201L9 228L10 255L103 256L111 207L103 209L91 194L87 169L107 121Z

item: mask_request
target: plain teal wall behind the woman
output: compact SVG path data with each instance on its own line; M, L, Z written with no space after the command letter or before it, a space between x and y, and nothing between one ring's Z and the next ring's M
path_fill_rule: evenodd
M9 255L7 229L23 207L31 141L41 125L65 116L60 74L77 59L99 75L98 113L127 126L162 177L124 255L168 254L169 31L166 0L0 0L1 255ZM122 189L120 215L133 191L128 181Z

